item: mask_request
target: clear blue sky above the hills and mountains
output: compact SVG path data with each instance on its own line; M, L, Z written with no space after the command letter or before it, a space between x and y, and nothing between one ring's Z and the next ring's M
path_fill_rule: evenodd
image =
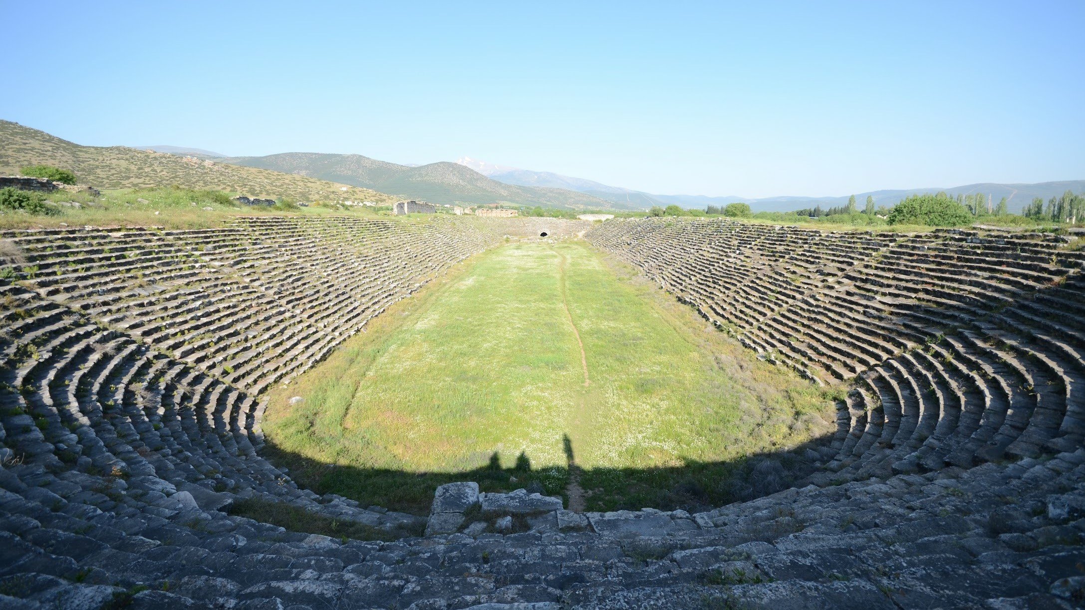
M1085 2L583 4L0 0L0 118L664 194L1085 179Z

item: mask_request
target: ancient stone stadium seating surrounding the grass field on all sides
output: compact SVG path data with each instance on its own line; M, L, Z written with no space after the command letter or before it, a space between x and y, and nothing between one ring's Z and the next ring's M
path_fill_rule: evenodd
M0 277L2 608L1085 603L1073 234L436 215L0 238L18 262ZM562 241L633 265L753 362L842 386L833 430L753 466L797 475L694 511L588 511L464 477L423 516L277 466L277 388L469 257ZM584 362L588 386L602 373Z

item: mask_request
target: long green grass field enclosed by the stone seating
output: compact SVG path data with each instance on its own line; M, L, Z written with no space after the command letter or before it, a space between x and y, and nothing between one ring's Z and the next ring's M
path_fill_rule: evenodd
M455 480L575 492L571 458L587 509L698 507L750 493L745 456L827 432L834 391L584 242L519 243L277 390L264 430L301 482L400 510L426 512Z

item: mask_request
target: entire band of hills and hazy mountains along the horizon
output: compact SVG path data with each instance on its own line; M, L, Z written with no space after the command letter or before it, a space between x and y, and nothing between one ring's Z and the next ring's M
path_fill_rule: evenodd
M169 156L142 156L155 151L176 157L192 156L246 168L272 170L269 173L234 174L227 167L167 163ZM135 156L133 156L135 155ZM106 160L108 159L108 160ZM181 161L181 159L177 159ZM152 185L155 177L168 183L252 191L253 195L310 197L315 194L342 193L334 185L367 189L367 199L396 197L425 199L436 204L514 204L549 206L562 209L647 209L677 205L684 208L723 206L736 202L750 204L754 211L790 211L842 206L847 194L839 196L741 196L661 195L593 180L573 178L550 171L534 171L461 157L456 163L439 161L420 166L398 165L362 155L322 153L282 153L261 157L224 157L219 153L190 146L152 145L132 147L80 146L17 124L0 121L0 166L17 171L21 165L46 163L76 170L84 178L104 187ZM240 169L239 169L240 171ZM276 173L280 172L280 173ZM282 176L288 174L288 176ZM316 179L316 180L311 180ZM307 181L308 180L308 181ZM321 182L322 181L322 182ZM1085 192L1085 180L1039 182L1035 184L975 183L961 186L882 190L855 193L861 204L870 195L879 205L892 206L917 193L945 191L950 195L983 193L994 202L1006 197L1011 211L1020 211L1033 197L1048 199L1065 191ZM379 193L373 193L376 191ZM360 194L361 192L356 193Z

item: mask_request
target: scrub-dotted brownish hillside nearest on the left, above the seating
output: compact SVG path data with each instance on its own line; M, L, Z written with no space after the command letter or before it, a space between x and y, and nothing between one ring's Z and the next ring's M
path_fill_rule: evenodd
M81 184L99 189L133 189L180 184L189 189L217 189L259 197L298 199L355 198L391 203L391 195L365 189L343 192L345 184L219 163L138 151L126 146L80 146L44 131L0 120L0 174L15 174L28 165L44 164L69 169Z

